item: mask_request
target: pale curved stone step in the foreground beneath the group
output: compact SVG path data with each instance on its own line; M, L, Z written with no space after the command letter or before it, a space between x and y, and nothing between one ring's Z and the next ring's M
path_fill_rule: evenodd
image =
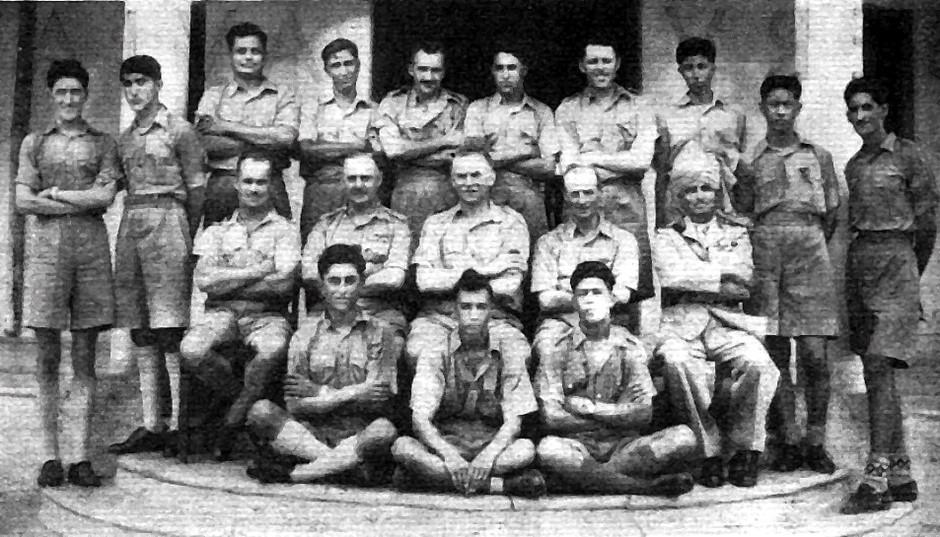
M40 517L61 535L861 535L889 527L911 504L838 514L847 475L767 473L753 489L697 487L678 499L463 498L327 485L259 485L244 464L182 465L124 457L97 490L45 489ZM482 516L481 516L482 515Z

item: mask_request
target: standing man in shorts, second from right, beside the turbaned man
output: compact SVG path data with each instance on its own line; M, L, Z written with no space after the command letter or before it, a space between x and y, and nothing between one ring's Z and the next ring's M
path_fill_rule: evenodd
M773 468L792 472L801 466L831 474L836 466L826 453L829 409L828 339L839 333L836 294L828 240L835 232L839 182L832 156L796 132L802 85L794 76L767 77L760 87L767 135L754 150L755 315L776 329L765 340L780 369L780 387L771 412L780 426L779 452ZM790 378L790 339L804 372L806 435L796 421L794 382Z

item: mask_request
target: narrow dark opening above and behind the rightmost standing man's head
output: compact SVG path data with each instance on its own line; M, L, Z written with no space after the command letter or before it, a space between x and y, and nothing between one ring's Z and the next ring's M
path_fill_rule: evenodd
M880 78L891 91L885 127L914 137L914 14L909 9L865 5L862 40L865 75Z

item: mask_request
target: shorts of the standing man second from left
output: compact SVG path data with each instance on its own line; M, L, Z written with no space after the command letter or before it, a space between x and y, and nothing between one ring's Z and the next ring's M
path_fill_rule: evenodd
M192 240L182 203L125 206L115 252L115 325L185 328L192 297Z

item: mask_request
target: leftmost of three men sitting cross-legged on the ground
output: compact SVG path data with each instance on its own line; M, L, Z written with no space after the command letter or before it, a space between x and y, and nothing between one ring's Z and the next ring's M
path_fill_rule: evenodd
M287 410L263 400L248 413L254 437L270 448L260 450L252 477L309 482L387 460L397 434L387 416L401 347L387 324L356 305L365 267L359 248L348 244L328 247L317 261L326 307L291 339ZM270 451L310 462L293 467Z

